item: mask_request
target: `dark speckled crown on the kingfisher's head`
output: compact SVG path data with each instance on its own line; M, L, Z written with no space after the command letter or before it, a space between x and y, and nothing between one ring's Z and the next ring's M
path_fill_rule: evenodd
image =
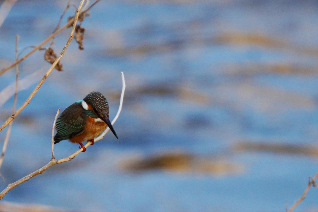
M85 96L83 99L87 104L92 105L94 110L97 110L99 112L104 111L106 112L106 115L108 117L109 114L109 107L108 102L104 95L102 95L98 91L93 91Z

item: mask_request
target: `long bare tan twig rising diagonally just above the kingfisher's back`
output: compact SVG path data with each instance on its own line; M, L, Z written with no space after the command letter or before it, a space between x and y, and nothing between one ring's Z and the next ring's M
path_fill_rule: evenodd
M48 77L49 74L51 74L53 68L56 66L56 64L58 64L59 60L61 60L62 56L65 53L65 50L67 49L68 45L70 44L71 40L73 39L73 35L74 35L74 31L75 31L75 26L77 23L77 19L79 18L79 11L81 10L83 3L85 0L82 0L80 2L79 5L79 9L76 11L76 15L75 15L75 19L74 19L74 23L73 23L73 28L71 31L71 35L69 37L69 39L66 42L66 45L64 46L62 52L60 53L59 57L56 58L55 62L52 64L52 66L50 67L50 69L46 72L46 74L42 77L41 81L38 83L37 87L33 90L33 92L30 94L30 96L28 97L28 99L23 103L23 105L15 112L13 113L5 122L4 124L1 125L0 127L0 131L3 130L3 128L5 128L20 112L21 110L23 110L31 101L31 99L33 98L33 96L38 92L38 90L40 89L40 87L42 86L42 84L44 83L44 81L46 80L46 78Z

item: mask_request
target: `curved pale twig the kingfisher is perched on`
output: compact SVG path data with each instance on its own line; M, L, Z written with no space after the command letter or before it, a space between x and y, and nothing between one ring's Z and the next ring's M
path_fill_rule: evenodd
M115 123L115 121L117 120L120 112L121 112L121 108L122 108L122 102L123 102L123 99L124 99L124 93L125 93L125 78L124 78L124 74L121 72L121 78L122 78L122 83L123 83L123 86L122 86L122 90L121 90L121 98L120 98L120 103L119 103L119 109L117 111L117 115L115 116L114 120L112 121L112 124ZM55 122L53 123L53 128L55 126ZM106 134L108 130L105 130L104 133ZM103 133L103 134L104 134ZM99 138L99 137L98 137ZM101 139L101 138L100 138ZM100 140L99 139L99 140ZM97 139L96 139L97 140ZM85 144L85 147L87 148L89 145L91 145L91 142L87 142ZM32 172L31 174L21 178L20 180L17 180L16 182L14 183L10 183L8 185L8 187L6 187L1 193L0 193L0 199L3 199L3 196L5 194L7 194L12 188L20 185L21 183L27 181L27 180L30 180L32 177L38 175L38 174L42 174L46 169L50 168L51 166L55 165L55 164L58 164L58 163L63 163L63 162L66 162L66 161L70 161L72 160L76 155L78 155L80 152L82 152L82 148L79 149L78 151L74 152L73 154L71 154L70 156L66 157L66 158L63 158L63 159L59 159L59 160L56 160L55 158L52 158L50 160L50 162L48 164L46 164L45 166L43 166L42 168L38 169L37 171L35 172Z

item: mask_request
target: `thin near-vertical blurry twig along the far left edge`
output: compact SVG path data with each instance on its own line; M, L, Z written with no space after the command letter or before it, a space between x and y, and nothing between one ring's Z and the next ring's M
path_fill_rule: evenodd
M19 36L16 35L16 61L18 60L18 40L19 40ZM16 110L17 94L18 94L18 80L19 80L19 64L16 65L16 88L15 88L14 99L13 99L12 113L14 113L14 111ZM1 157L0 157L0 168L1 168L2 163L3 163L4 153L7 150L7 145L9 142L12 123L13 122L11 122L9 124L8 131L5 135L5 139L4 139L4 143L3 143L3 147L2 147L2 152L1 152Z

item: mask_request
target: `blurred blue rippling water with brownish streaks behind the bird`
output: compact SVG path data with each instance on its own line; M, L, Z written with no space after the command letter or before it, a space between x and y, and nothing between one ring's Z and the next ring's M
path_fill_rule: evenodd
M15 60L16 34L19 52L40 44L66 5L17 1L0 28L1 68ZM58 108L97 90L112 120L122 71L127 88L114 124L119 139L107 133L72 161L13 188L0 205L37 204L49 211L289 208L318 169L317 8L317 1L98 2L82 22L84 50L72 40L63 71L53 70L14 119L0 189L49 162ZM56 54L70 31L55 38ZM36 51L19 64L17 107L50 67L43 55ZM15 68L0 82L3 124L11 114ZM78 148L62 141L55 156ZM310 188L294 211L317 211L317 198L317 188Z

